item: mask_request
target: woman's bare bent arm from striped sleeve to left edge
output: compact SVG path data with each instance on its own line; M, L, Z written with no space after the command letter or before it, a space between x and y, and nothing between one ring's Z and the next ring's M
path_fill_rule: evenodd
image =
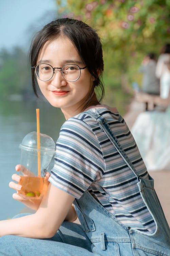
M50 183L37 212L0 221L0 236L12 234L29 238L50 238L54 236L64 219L76 218L72 208L73 201L74 197Z

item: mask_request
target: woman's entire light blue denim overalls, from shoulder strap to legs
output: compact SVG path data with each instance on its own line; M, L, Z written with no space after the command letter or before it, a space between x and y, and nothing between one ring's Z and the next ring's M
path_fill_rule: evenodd
M17 236L0 238L0 255L10 256L170 256L170 229L153 187L153 179L139 177L105 119L87 111L105 131L138 179L143 201L156 223L153 234L126 228L86 191L74 200L81 225L63 222L51 239ZM86 114L87 114L86 112ZM20 217L18 215L17 217Z

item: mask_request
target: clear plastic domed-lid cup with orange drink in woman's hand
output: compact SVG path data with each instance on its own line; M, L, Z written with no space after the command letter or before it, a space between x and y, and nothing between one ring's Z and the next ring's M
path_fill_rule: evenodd
M53 139L46 134L39 133L39 135L39 149L37 149L37 132L34 131L27 134L19 145L21 149L19 184L22 185L22 189L18 193L25 199L39 199L43 194L44 176L55 153Z

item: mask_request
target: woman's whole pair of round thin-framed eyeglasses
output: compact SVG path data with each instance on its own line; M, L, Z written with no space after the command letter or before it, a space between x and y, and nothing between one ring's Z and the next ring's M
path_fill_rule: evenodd
M68 82L75 82L80 77L81 69L87 67L80 68L75 64L66 64L62 68L53 68L49 64L41 63L32 68L35 69L35 74L41 81L49 81L53 77L55 69L60 69L65 80Z

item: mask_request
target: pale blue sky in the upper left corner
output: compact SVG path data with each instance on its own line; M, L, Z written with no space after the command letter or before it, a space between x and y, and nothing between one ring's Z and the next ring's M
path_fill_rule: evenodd
M56 17L55 0L0 0L0 50L29 47L33 33Z

